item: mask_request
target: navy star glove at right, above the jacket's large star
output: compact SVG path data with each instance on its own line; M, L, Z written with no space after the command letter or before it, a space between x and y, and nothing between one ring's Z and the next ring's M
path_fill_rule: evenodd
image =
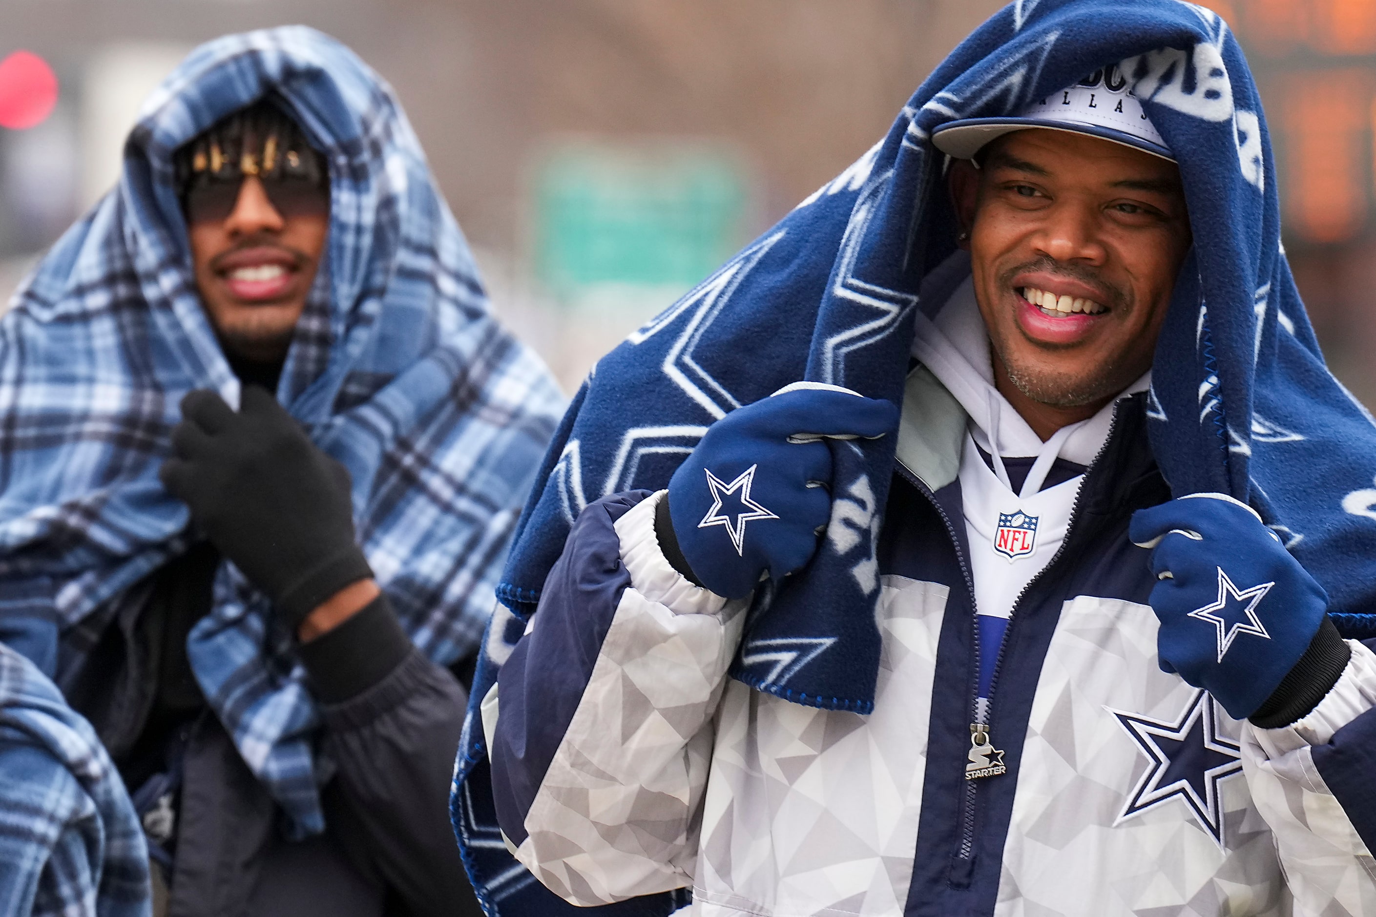
M1128 537L1152 549L1161 669L1207 690L1233 719L1273 726L1255 715L1289 708L1274 723L1285 726L1342 675L1350 651L1328 621L1328 593L1247 504L1190 494L1132 514ZM1307 706L1293 715L1295 704Z

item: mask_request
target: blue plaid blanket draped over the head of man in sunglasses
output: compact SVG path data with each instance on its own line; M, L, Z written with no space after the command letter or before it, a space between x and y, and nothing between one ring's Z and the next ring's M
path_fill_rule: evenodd
M202 45L146 102L118 186L0 319L0 610L54 622L59 683L194 537L158 467L186 392L237 405L239 387L197 296L172 154L264 96L330 172L327 248L278 399L348 468L369 563L439 664L482 635L563 408L488 314L387 84L304 28ZM290 635L231 563L213 589L187 646L197 680L294 832L319 832L330 766Z

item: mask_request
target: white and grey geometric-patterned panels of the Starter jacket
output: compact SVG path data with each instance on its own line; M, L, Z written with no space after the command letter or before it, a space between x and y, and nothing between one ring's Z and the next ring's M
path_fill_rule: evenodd
M659 552L660 498L601 531L619 542L630 585L530 800L517 859L583 906L691 884L689 913L702 917L938 913L910 883L922 866L923 803L940 803L923 799L938 647L952 609L962 618L967 609L944 584L882 578L868 716L754 691L725 676L740 615L720 611ZM1145 595L1142 567L1132 576ZM563 613L546 596L531 626L556 626ZM1117 713L1170 724L1201 697L1160 671L1157 626L1143 602L1079 595L1061 606L1033 665L1021 761L995 778L1014 779L1015 792L995 839L1002 866L988 913L1373 913L1370 852L1310 746L1376 704L1376 654L1354 642L1339 686L1295 727L1256 730L1215 706L1219 745L1236 745L1244 764L1216 782L1219 844L1181 797L1124 816L1152 761ZM484 706L488 734L501 721L497 705Z

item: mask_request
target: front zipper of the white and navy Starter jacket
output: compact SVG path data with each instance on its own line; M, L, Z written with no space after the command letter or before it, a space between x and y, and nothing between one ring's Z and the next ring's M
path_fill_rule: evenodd
M904 478L907 478L908 483L914 485L918 489L918 492L927 498L927 503L932 504L932 508L937 511L938 516L941 516L941 522L945 523L947 534L951 537L951 545L955 548L956 560L960 562L960 573L965 576L966 589L969 589L970 593L970 610L974 613L970 615L971 618L970 625L973 633L971 646L974 649L974 672L976 672L976 677L970 680L970 735L971 735L971 742L977 746L985 745L992 748L993 745L993 738L989 730L989 724L993 721L995 691L999 686L999 671L1003 668L1003 655L1007 651L1009 636L1011 635L1013 628L1018 620L1017 614L1018 606L1022 603L1022 598L1038 582L1038 580L1040 580L1047 570L1050 570L1057 565L1057 562L1065 554L1066 547L1071 544L1071 536L1075 531L1075 523L1079 519L1080 514L1080 497L1084 494L1086 485L1090 483L1090 474L1093 472L1094 467L1098 465L1099 458L1104 457L1104 453L1108 452L1109 443L1113 441L1113 432L1115 430L1117 430L1120 403L1121 401L1113 405L1113 419L1109 421L1109 430L1108 435L1105 435L1104 438L1104 445L1099 446L1098 453L1095 453L1094 460L1090 463L1090 468L1084 472L1084 481L1080 483L1080 489L1075 493L1075 500L1071 503L1071 518L1066 522L1065 537L1061 538L1061 547L1057 548L1055 554L1051 555L1051 559L1047 562L1047 565L1042 567L1042 570L1035 577L1032 577L1025 587L1022 587L1022 589L1018 592L1017 599L1013 600L1013 609L1009 613L1009 625L1003 632L1003 640L999 644L999 654L993 660L993 675L989 679L989 704L985 708L985 716L982 721L978 712L980 610L976 606L974 600L974 577L970 576L970 566L969 563L966 563L965 554L960 551L960 540L956 534L954 523L951 522L951 516L947 515L947 511L943 509L941 504L937 503L936 494L932 493L932 489L927 487L915 474L912 474L907 467L904 467L903 463L894 463L900 470L900 474L903 474ZM969 770L966 772L969 774ZM1002 774L1003 771L1000 770L999 772ZM960 801L960 845L956 851L956 858L966 865L969 865L974 854L974 815L976 815L976 803L978 799L978 783L980 783L978 779L966 779L965 799Z

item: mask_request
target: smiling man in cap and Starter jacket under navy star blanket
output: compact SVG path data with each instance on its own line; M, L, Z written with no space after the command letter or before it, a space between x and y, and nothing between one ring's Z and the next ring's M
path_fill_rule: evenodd
M460 759L502 914L1376 911L1372 531L1295 476L1376 436L1256 105L1198 7L1014 4L599 363Z

